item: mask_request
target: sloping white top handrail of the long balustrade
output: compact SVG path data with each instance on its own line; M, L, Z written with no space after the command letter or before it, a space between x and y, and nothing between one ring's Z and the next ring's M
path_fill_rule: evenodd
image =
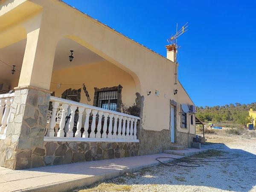
M87 105L87 104L83 104L83 103L79 103L79 102L74 102L74 101L70 101L70 100L67 100L67 99L62 99L62 98L58 98L58 97L54 97L54 96L51 96L50 101L56 101L56 102L60 102L60 103L67 103L69 105L76 105L77 107L83 107L83 108L88 108L88 109L92 109L92 110L103 111L103 112L107 112L107 113L113 113L113 114L120 115L120 116L127 116L127 117L134 118L134 119L140 119L140 117L137 117L137 116L128 115L128 114L125 114L125 113L119 113L119 112L116 112L116 111L111 111L111 110L107 110L107 109L103 109L103 108L98 108L98 107L95 107L95 106L92 106L92 105Z

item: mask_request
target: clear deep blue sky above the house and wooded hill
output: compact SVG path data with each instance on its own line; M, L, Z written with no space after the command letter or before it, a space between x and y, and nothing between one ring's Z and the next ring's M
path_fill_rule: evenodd
M195 105L256 102L256 1L64 2L164 56L176 23L189 22L178 40L178 73Z

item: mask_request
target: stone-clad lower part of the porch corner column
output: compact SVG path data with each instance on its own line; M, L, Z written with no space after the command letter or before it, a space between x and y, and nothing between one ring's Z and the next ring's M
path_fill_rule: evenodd
M23 169L31 151L42 147L49 108L49 93L26 87L15 90L6 139L0 140L0 166Z

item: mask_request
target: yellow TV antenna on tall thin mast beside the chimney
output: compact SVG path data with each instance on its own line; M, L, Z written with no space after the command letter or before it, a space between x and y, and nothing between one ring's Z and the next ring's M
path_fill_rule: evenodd
M175 67L175 83L174 84L177 84L177 49L180 49L180 46L178 46L177 42L178 42L178 38L183 34L185 33L187 30L188 30L188 22L186 22L185 25L183 25L179 30L178 30L178 23L176 25L176 34L175 35L172 35L171 38L167 39L167 42L169 44L172 44L172 45L175 45L175 48L176 48L176 54L175 54L175 62L176 62L176 67Z

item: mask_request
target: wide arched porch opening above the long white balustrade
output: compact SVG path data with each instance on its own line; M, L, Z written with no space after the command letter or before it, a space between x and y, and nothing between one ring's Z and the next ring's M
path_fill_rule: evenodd
M70 50L73 50L74 57L71 62ZM66 96L64 99L67 99L68 92L81 89L80 102L96 107L106 106L99 104L101 95L99 93L108 92L104 93L104 100L116 99L116 102L120 102L121 98L122 103L131 106L135 103L135 93L140 92L140 83L137 77L134 79L136 76L134 73L128 72L130 72L128 69L116 66L76 41L65 37L58 42L55 50L50 91L56 97ZM122 90L117 88L119 85L122 86ZM106 104L107 101L104 102ZM108 101L108 106L111 105L109 102L111 101ZM117 103L117 105L117 108L114 108L117 110L114 111L120 112L121 104Z

